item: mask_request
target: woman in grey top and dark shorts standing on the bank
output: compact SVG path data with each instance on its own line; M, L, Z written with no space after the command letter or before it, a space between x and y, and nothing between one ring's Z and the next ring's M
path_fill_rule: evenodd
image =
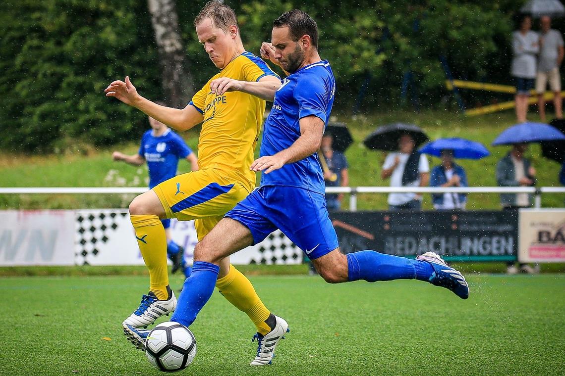
M512 33L512 71L516 80L516 117L518 122L526 121L528 96L536 78L536 54L540 51L537 33L532 32L532 18L524 15L520 20L520 29Z

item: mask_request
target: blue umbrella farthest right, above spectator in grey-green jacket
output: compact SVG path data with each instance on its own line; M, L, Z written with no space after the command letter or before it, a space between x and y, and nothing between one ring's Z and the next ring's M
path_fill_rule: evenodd
M492 145L512 145L540 141L565 140L557 128L542 123L521 123L505 129Z

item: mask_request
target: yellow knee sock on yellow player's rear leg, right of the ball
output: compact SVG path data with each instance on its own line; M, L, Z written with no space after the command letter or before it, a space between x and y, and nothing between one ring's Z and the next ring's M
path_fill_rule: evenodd
M228 275L216 281L220 294L237 309L245 312L257 326L260 334L267 334L271 328L265 323L271 312L265 307L253 285L240 271L230 264Z

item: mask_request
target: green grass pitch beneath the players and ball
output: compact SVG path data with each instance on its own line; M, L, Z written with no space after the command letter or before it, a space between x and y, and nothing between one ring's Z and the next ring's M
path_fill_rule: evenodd
M471 275L471 297L419 281L254 276L290 333L251 368L254 327L215 291L185 375L549 375L565 370L565 275ZM180 277L172 280L177 287ZM153 375L121 333L146 276L3 277L2 375ZM105 339L106 338L106 339ZM110 340L108 340L110 339Z

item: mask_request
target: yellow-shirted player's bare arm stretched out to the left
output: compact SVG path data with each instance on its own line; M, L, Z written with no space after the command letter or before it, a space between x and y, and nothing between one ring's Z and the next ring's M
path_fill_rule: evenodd
M138 94L129 76L125 77L125 81L117 80L110 83L104 92L106 96L113 96L178 131L188 130L204 120L202 114L192 105L177 109L161 106L144 98Z

